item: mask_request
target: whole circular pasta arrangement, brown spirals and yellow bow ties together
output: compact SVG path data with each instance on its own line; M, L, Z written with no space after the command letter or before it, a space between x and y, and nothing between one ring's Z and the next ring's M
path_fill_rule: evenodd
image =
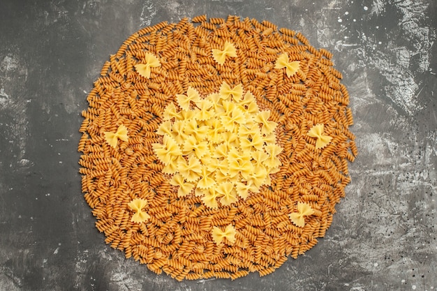
M332 54L205 15L130 36L82 112L82 192L106 243L177 280L272 273L324 237L357 156Z

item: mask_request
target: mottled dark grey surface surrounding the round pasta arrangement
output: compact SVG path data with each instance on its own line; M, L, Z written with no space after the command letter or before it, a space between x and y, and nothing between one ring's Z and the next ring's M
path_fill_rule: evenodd
M435 0L0 0L0 290L437 290ZM105 245L80 191L80 112L141 27L269 20L334 54L360 151L324 239L273 274L178 283Z

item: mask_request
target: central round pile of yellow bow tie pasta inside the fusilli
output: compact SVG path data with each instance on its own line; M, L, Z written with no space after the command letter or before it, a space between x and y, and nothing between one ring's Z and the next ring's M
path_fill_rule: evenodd
M174 103L165 107L157 131L163 144L152 147L165 164L163 172L173 175L170 184L179 186L179 197L195 191L207 207L216 208L218 198L230 205L270 185L282 148L276 145L277 124L268 120L268 110L260 112L251 92L223 83L217 93L201 98L188 87L177 103L182 110Z

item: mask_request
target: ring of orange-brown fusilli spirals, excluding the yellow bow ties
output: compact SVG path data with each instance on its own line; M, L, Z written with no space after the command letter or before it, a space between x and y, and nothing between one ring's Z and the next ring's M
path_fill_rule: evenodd
M218 64L212 50L223 49L225 42L235 44L236 57ZM275 67L283 53L299 61L290 77ZM161 66L144 77L135 66L145 64L148 54ZM266 276L288 256L297 258L312 248L332 223L334 206L350 181L348 161L357 156L355 135L348 130L353 124L348 91L332 57L300 32L235 16L208 20L200 15L133 33L103 65L87 97L89 108L82 112L82 192L105 242L179 281L235 280L252 271ZM152 144L163 142L156 131L177 95L189 87L202 96L212 94L223 81L242 84L260 110L271 112L269 120L278 124L276 144L283 151L269 186L212 209L195 193L179 197ZM307 134L317 124L332 138L326 147L318 148ZM121 125L128 140L112 147L105 133ZM128 207L136 198L147 200L150 217L142 223L132 221L135 211ZM290 220L299 203L312 209L304 227ZM228 225L235 229L235 241L225 237L216 244L213 227Z

